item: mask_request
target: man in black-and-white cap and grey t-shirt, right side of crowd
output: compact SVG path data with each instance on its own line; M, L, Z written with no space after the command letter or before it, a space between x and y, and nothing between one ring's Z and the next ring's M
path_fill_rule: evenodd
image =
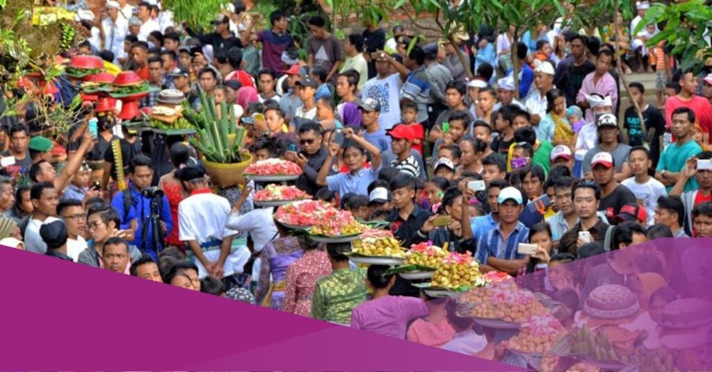
M615 180L622 182L632 176L633 171L628 163L631 147L618 142L620 128L613 114L605 114L598 119L598 144L590 149L583 158L583 172L587 179L591 178L592 159L596 154L605 152L609 154L616 165Z

